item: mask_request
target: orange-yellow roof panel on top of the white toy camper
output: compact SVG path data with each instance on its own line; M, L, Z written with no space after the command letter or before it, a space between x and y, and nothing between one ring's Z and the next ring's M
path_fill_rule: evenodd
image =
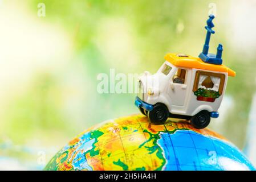
M177 53L168 53L165 55L165 60L169 61L176 67L185 67L185 68L196 68L196 69L205 69L208 71L217 71L217 72L226 72L229 76L235 76L235 72L227 68L225 65L209 64L202 61L199 57L193 57L189 55L178 56Z

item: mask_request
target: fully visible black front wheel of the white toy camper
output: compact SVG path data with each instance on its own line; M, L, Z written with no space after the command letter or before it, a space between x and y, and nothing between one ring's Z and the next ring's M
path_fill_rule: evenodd
M169 111L164 104L156 104L152 111L148 111L149 120L155 125L162 125L168 118Z

